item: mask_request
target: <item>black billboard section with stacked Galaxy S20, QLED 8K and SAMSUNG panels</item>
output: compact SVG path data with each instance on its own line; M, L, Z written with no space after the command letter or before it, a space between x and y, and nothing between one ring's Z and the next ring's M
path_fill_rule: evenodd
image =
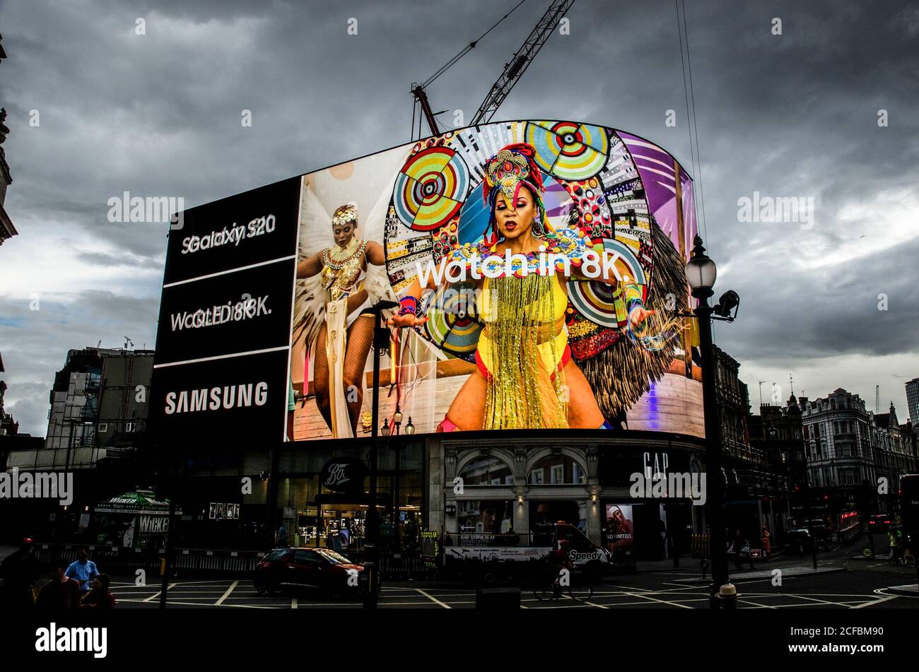
M186 210L170 231L151 406L168 442L283 437L299 184Z

